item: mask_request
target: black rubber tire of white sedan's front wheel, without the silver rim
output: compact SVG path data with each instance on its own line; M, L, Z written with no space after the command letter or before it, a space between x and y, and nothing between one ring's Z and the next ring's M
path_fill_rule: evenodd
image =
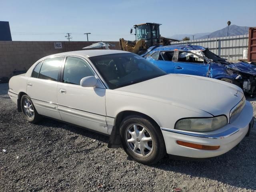
M148 156L146 156L146 157L142 156L142 154L141 154L141 156L138 154L138 152L140 152L140 149L138 149L137 152L132 151L130 149L131 147L129 147L129 146L131 146L133 143L128 144L128 142L126 142L126 140L127 140L126 134L128 134L127 129L132 128L132 126L134 124L139 124L142 126L142 128L143 127L146 128L145 134L148 134L152 138L152 142L151 142L152 149L150 150L150 152L148 152L148 154L147 154ZM135 131L135 129L134 129L134 131ZM164 137L162 135L160 127L155 122L152 122L150 119L148 119L146 117L142 117L142 116L126 117L120 124L120 136L121 136L121 142L122 142L124 151L126 152L126 154L128 154L128 156L130 156L136 162L139 162L142 164L148 164L148 165L155 164L156 162L161 160L164 157L164 155L166 154ZM140 140L138 140L138 141L141 142ZM137 144L138 143L136 143L136 145ZM135 144L133 144L133 145L135 146ZM150 143L148 143L147 145L149 146ZM134 149L135 149L135 147L134 147ZM146 150L148 150L148 149L146 149Z

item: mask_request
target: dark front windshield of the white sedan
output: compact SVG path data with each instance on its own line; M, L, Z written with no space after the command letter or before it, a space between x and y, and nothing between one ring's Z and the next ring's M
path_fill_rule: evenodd
M133 53L118 53L90 57L110 89L116 89L152 78L166 72Z

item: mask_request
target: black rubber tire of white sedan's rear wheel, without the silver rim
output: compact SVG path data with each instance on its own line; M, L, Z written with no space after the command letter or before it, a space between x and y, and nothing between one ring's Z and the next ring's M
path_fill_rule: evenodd
M33 113L33 116L32 117L29 117L27 114L26 114L26 111L25 111L25 108L24 108L24 102L25 101L29 101L30 104L32 105L32 109L34 110L34 113ZM26 118L26 120L30 123L37 123L39 122L40 120L42 120L42 116L40 114L38 114L38 112L36 111L36 108L31 100L31 98L28 96L28 95L23 95L21 97L21 100L20 100L20 106L21 106L21 109L22 109L22 113L24 115L24 117Z

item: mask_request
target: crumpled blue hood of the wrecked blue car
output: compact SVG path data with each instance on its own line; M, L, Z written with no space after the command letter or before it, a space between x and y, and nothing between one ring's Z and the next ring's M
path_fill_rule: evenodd
M246 74L256 75L256 66L246 63L246 62L238 62L227 65L227 68L231 70L243 72Z

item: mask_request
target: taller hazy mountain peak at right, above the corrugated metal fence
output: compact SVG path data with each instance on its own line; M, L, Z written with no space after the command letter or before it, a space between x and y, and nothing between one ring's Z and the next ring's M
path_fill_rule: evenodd
M236 36L236 35L245 35L248 34L249 27L237 26L237 25L230 25L229 28L225 27L221 30L214 31L211 34L208 34L210 38L215 37L225 37L225 36ZM200 39L208 38L208 35L201 36Z

